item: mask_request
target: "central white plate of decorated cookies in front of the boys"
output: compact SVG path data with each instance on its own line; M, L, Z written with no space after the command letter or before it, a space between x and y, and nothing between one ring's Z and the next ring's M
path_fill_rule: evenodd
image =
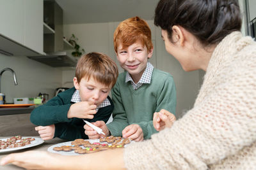
M100 139L76 139L74 141L52 145L47 151L61 155L80 155L100 152L102 150L123 148L131 142L133 142L131 139L114 136L101 137Z

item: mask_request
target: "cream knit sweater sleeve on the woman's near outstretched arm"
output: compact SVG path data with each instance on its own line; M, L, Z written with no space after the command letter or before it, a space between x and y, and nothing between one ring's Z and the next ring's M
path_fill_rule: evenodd
M252 145L255 73L241 73L246 81L238 73L230 75L171 128L125 148L127 169L207 169Z

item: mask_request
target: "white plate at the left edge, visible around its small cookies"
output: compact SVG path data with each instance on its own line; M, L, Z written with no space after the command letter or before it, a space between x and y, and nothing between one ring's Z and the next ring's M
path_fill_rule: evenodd
M21 146L21 147L17 147L17 148L6 148L6 149L3 149L3 150L0 150L0 153L12 152L12 151L15 151L15 150L22 150L22 149L25 149L25 148L30 148L30 147L37 146L37 145L40 145L40 144L44 143L44 140L41 139L41 138L36 138L36 137L31 137L31 136L23 136L22 139L24 139L24 138L35 138L35 141L31 141L31 143L29 145L25 145L25 146ZM8 139L8 138L3 138L3 139L0 139L0 140L6 141L6 139Z

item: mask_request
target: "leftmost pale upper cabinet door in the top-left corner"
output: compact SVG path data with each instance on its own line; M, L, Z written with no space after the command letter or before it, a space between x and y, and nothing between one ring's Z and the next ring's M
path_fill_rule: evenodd
M24 44L25 0L1 0L0 2L0 34Z

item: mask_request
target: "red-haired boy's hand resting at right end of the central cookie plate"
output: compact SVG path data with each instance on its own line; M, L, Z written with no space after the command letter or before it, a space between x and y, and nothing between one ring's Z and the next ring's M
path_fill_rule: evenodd
M122 131L124 138L130 138L134 141L143 141L143 131L138 124L132 124L125 127Z

